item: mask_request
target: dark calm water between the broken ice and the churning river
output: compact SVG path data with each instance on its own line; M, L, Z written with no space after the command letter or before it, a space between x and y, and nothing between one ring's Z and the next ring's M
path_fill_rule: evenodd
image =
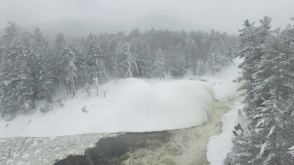
M166 143L170 136L168 131L162 131L103 138L96 143L96 147L87 149L84 155L70 155L57 160L54 165L122 165L123 161L129 159L127 153Z

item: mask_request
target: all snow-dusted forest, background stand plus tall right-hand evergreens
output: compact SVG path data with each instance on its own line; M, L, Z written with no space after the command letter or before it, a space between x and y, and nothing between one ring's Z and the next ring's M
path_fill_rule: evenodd
M245 107L238 115L248 127L232 139L224 162L294 165L294 26L272 28L271 22L269 16L246 19L238 35L135 28L50 38L9 21L0 38L0 116L28 114L37 100L47 102L47 111L52 102L62 105L62 92L74 98L81 89L90 97L92 88L114 79L214 76L241 58L242 76L234 82L242 84Z

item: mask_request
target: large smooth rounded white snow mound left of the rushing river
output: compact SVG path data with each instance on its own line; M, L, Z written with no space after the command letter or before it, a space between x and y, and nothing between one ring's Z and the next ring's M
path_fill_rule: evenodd
M181 129L205 123L213 109L214 91L200 81L125 79L99 87L106 89L106 98L97 97L96 89L90 97L78 91L77 98L66 100L64 107L52 105L46 114L38 110L0 120L0 138ZM88 113L81 110L85 105Z

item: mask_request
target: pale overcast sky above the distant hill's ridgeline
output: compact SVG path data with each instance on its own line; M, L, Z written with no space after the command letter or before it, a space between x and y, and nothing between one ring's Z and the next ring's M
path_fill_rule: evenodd
M1 28L9 20L20 25L85 18L126 23L151 14L235 33L243 20L264 15L273 17L274 27L284 27L294 17L294 0L0 0Z

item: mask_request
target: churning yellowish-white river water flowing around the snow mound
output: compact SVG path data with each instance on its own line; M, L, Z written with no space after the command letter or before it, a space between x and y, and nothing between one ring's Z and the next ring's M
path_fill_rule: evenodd
M209 137L221 133L221 118L234 100L216 101L209 121L199 127L167 131L171 134L165 143L147 140L147 147L127 153L125 165L207 165L206 152ZM160 134L160 132L158 132Z

